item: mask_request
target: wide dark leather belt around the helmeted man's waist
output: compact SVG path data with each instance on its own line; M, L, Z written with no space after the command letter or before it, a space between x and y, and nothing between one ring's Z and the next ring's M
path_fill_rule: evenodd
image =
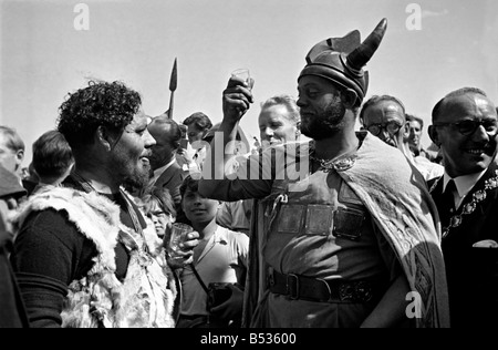
M294 274L270 271L268 286L271 292L319 302L369 302L378 300L380 288L367 280L325 280Z

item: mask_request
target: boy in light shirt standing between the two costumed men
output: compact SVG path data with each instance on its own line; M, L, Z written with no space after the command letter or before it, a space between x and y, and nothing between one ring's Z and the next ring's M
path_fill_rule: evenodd
M183 294L177 327L239 327L249 238L219 226L220 203L203 197L197 187L191 176L180 186L181 208L200 237L194 262L177 270Z

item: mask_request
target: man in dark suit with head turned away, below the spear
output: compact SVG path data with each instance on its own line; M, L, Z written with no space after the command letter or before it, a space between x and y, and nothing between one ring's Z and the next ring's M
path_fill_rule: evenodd
M149 157L153 174L147 187L167 188L175 202L176 220L188 223L181 210L181 195L179 193L185 172L176 161L176 151L180 145L181 130L167 114L156 116L147 128L156 140L156 144L152 146L152 155Z

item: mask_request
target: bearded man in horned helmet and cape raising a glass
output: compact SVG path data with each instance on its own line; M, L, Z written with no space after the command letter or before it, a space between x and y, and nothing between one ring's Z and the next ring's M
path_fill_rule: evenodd
M448 326L437 214L424 181L397 150L354 130L369 84L363 68L385 30L384 19L363 43L353 31L314 45L298 78L301 132L312 141L272 146L236 178L215 162L217 147L232 140L253 82L231 78L224 91L222 144L211 143L214 173L203 174L199 192L267 204L251 235L250 268L260 270L249 271L251 327Z

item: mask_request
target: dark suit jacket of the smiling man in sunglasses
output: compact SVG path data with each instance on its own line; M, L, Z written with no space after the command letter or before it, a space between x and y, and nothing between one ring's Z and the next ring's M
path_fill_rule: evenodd
M452 327L498 326L498 248L473 247L486 239L498 243L497 168L497 164L491 163L453 214L444 205L442 178L432 191L443 231L452 217L471 210L475 193L486 193L486 198L477 203L470 214L461 215L460 225L450 227L443 237Z

